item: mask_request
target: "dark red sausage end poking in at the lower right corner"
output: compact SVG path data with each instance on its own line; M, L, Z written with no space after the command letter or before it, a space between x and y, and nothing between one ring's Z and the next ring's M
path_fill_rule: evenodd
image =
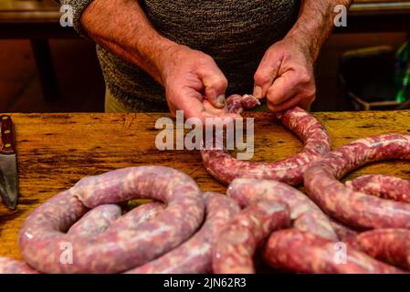
M356 235L351 244L384 262L410 268L410 230L374 229Z

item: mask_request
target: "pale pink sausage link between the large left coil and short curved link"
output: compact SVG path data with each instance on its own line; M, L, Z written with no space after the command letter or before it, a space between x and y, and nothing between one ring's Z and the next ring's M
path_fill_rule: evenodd
M206 219L183 245L158 259L131 269L129 274L203 274L212 271L212 245L222 228L239 212L237 203L219 193L204 193Z

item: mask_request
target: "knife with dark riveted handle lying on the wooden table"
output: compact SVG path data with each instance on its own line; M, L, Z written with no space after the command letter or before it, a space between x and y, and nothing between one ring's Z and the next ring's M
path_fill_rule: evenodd
M9 116L0 116L2 144L0 145L0 194L9 209L16 209L17 162L13 122Z

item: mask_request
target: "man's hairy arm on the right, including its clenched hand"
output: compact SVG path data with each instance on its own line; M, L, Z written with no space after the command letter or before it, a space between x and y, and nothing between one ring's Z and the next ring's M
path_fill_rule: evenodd
M268 99L268 109L305 109L315 99L313 64L334 26L337 5L352 0L304 0L287 36L268 48L255 73L254 96Z

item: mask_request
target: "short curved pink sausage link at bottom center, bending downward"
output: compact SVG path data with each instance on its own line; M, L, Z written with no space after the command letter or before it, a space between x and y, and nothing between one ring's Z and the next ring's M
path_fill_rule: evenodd
M284 203L260 201L237 214L221 232L213 248L216 274L255 274L255 251L265 238L289 226L289 208Z

